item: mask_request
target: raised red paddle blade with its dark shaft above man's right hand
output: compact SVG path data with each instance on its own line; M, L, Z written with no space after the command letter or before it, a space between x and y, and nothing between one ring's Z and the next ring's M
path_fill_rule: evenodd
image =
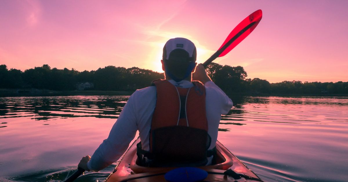
M262 11L259 9L243 19L243 21L240 22L228 35L216 53L203 63L203 66L206 68L217 57L222 57L235 48L238 43L242 42L242 40L244 40L255 29L255 27L260 23L261 18Z

